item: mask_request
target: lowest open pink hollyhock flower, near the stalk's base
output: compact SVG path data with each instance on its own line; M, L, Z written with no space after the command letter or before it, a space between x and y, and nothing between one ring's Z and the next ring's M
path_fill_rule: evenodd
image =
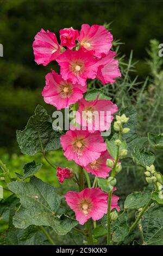
M115 198L116 197L116 198ZM76 219L83 225L89 218L93 221L100 220L108 209L108 194L101 188L85 188L81 192L69 191L65 199L70 208L75 212ZM118 197L112 195L111 209L118 208Z

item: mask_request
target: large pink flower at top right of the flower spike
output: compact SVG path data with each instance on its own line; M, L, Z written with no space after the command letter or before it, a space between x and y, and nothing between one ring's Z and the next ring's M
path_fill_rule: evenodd
M87 24L82 25L78 41L86 51L91 51L94 56L101 58L102 54L108 54L112 44L112 34L104 26Z

